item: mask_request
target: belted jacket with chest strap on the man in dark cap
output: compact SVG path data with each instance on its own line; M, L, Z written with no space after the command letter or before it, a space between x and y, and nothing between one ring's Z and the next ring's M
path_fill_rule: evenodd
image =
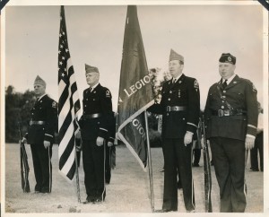
M243 111L243 115L213 115L213 111L218 109L229 109L225 101L233 110ZM246 135L256 136L257 114L256 88L252 82L236 75L224 90L221 81L214 83L208 91L204 109L206 137L220 136L245 141Z

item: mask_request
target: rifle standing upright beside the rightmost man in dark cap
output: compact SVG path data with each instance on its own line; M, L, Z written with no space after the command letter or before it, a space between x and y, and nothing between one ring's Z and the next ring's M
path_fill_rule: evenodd
M204 135L204 196L205 196L205 212L212 213L212 201L211 201L211 190L212 190L212 178L211 178L211 167L210 167L210 159L208 153L208 145L206 143L205 136L205 127L204 127L204 115L202 116L202 131Z

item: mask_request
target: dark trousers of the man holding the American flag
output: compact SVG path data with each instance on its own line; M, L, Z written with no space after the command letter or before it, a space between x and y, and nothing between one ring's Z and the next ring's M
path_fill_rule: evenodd
M84 169L84 184L88 199L105 200L105 144L98 146L95 140L83 140L82 162Z

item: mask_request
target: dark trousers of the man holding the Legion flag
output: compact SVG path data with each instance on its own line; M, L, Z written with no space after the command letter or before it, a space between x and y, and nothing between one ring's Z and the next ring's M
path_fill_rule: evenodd
M195 192L192 177L192 145L185 146L183 138L163 139L164 147L164 191L163 210L178 210L178 181L183 188L184 203L187 211L195 209Z

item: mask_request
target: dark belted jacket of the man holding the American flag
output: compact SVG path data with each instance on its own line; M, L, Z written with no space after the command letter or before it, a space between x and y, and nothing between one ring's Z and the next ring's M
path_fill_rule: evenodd
M91 140L98 136L108 138L109 116L112 115L112 96L108 88L98 84L92 91L83 91L83 115L80 119L82 139ZM87 118L87 115L100 114L100 117Z

